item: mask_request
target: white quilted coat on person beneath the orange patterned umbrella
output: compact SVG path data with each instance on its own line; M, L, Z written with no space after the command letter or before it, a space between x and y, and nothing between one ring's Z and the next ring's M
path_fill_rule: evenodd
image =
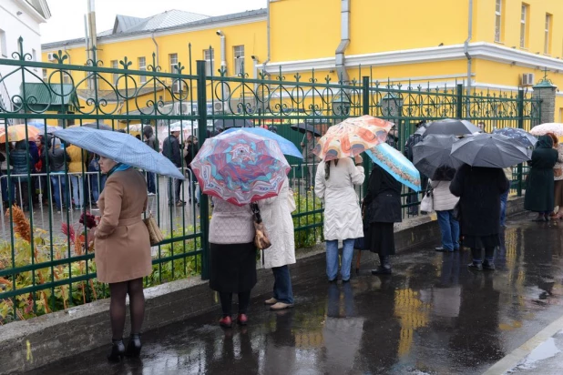
M363 167L356 167L353 159L345 157L335 166L331 162L329 179L324 178L324 161L317 167L314 192L324 199L324 239L363 237L362 210L354 185L361 185Z

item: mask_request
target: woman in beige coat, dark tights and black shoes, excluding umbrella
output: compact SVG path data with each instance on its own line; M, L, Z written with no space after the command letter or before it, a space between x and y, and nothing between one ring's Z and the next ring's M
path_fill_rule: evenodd
M111 301L112 347L108 360L124 355L137 357L140 329L145 315L143 279L152 271L148 229L141 214L147 208L145 178L132 167L100 157L99 167L107 174L106 187L97 205L101 219L95 232L97 279L109 284ZM129 296L131 336L128 348L123 344L125 300Z

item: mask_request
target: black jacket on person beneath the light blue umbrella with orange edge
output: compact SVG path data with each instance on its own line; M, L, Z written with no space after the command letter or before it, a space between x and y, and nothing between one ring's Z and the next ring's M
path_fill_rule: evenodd
M368 223L398 223L401 217L401 183L377 164L370 175L367 194L363 198Z

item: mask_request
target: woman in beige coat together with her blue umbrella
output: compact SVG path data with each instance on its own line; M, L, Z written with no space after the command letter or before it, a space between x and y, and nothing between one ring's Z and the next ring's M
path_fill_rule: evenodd
M74 127L57 130L55 136L100 156L99 167L107 182L98 200L101 218L89 233L96 248L97 279L108 283L111 293L112 345L107 359L137 357L145 315L143 278L152 272L152 257L148 229L141 217L148 206L147 182L135 167L167 177L184 177L168 158L128 134ZM91 239L88 235L87 242ZM126 349L122 337L127 296L131 336Z

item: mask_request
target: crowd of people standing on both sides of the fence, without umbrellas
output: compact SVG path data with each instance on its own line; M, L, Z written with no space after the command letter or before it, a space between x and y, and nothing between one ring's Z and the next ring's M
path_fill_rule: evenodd
M419 127L424 126L424 122ZM197 137L190 136L185 145L180 144L180 129L172 128L162 144L162 154L176 167L190 164L199 151ZM142 140L158 150L152 127L145 127ZM316 144L309 132L307 143L302 144L304 162ZM563 151L557 146L557 137L540 137L529 162L531 167L526 196L526 208L538 213L537 219L561 218L554 207L563 203ZM83 207L87 198L96 198L101 211L99 224L90 233L95 239L97 278L107 282L111 290L110 320L112 346L109 360L123 356L138 356L141 350L140 330L144 317L145 300L142 278L152 272L148 229L141 214L148 208L148 196L156 192L154 174L143 176L133 167L106 157L97 157L75 146L63 148L54 139L37 142L36 160L26 155L29 144L19 142L10 150L12 173L26 175L27 159L36 161L36 170L51 171L56 206L70 205L69 197L57 195L58 185L65 178L58 174L72 173L72 197L75 207ZM182 160L183 159L183 160ZM1 157L0 157L1 160ZM312 165L316 160L312 158ZM558 164L559 163L559 164ZM559 167L557 167L559 166ZM2 164L2 167L7 167ZM403 218L401 208L402 186L383 167L374 164L368 187L363 197L358 197L356 187L363 184L365 171L363 158L340 157L321 160L315 169L307 170L314 193L324 206L323 236L326 246L326 276L330 283L351 279L353 248L358 238L363 238L362 249L379 257L372 274L391 274L391 256L395 254L394 223ZM84 192L80 173L96 170L104 174L105 188ZM437 251L456 251L462 246L471 249L469 269L494 270L495 249L500 245L499 233L505 225L507 193L511 168L471 167L467 164L457 169L438 169L427 186L433 189L434 208L441 229L442 243ZM307 177L305 177L307 178ZM26 183L32 181L23 180ZM169 205L182 207L181 180L169 178ZM195 179L191 179L195 182ZM96 184L97 185L97 184ZM24 185L22 185L22 194ZM3 189L4 191L4 189ZM63 186L62 191L67 191ZM127 192L127 194L125 194ZM93 195L94 197L92 197ZM85 197L86 196L86 197ZM189 188L189 198L197 199L195 188ZM291 309L294 306L292 279L289 266L295 263L294 228L292 220L293 199L289 179L285 177L279 194L261 199L256 205L235 205L221 198L211 198L213 212L210 219L210 289L219 293L222 317L221 327L230 329L233 324L247 325L251 289L257 283L257 247L255 243L256 219L263 222L271 239L271 246L262 252L263 266L272 270L271 297L264 304L271 310ZM64 201L63 201L64 200ZM361 202L361 204L359 203ZM294 204L294 202L293 202ZM69 206L68 206L69 207ZM342 242L340 256L339 242ZM111 248L123 248L115 252ZM132 255L134 256L132 257ZM339 272L340 271L340 272ZM233 295L238 298L238 311L233 319ZM129 298L131 335L128 346L123 342L126 319L126 298Z

